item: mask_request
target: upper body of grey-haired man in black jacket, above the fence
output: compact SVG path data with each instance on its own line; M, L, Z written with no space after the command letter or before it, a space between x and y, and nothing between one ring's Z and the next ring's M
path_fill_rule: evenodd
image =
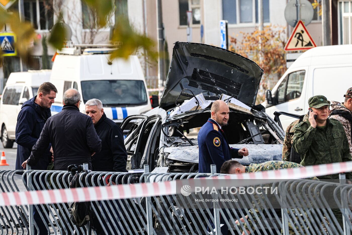
M121 128L106 117L103 104L98 99L86 102L86 114L92 118L101 139L101 151L92 157L94 171L126 172L127 152Z

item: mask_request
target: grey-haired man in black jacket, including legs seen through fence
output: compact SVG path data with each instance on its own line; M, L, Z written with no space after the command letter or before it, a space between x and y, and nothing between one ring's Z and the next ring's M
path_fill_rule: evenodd
M93 169L95 171L126 172L127 152L121 128L106 117L103 104L98 99L92 99L86 102L86 114L92 118L96 133L98 133L101 139L101 151L96 152L92 157ZM93 225L97 235L105 234L102 227L108 230L107 224L116 224L120 233L122 233L119 228L118 221L120 217L118 209L115 207L112 200L108 201L108 203L111 204L112 207L108 205L104 206L103 204L106 204L106 202L102 201L100 202L100 208L96 208L96 210L102 213L112 215L108 217L107 220L103 220L102 224L99 223L98 216L93 219ZM116 203L120 207L120 210L122 210L122 205L118 201L116 201ZM112 229L112 234L118 234L114 226L112 226Z

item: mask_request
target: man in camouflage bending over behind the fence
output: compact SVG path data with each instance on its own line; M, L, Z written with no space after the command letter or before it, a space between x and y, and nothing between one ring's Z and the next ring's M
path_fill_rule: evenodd
M241 174L241 173L252 173L252 172L258 172L258 171L278 170L278 169L287 169L287 168L296 168L296 167L303 167L303 166L298 163L295 163L295 162L285 162L285 161L268 161L268 162L263 162L263 163L258 163L258 164L251 163L249 166L244 166L235 160L230 160L230 161L226 161L226 162L224 162L224 164L222 164L220 173L221 174ZM311 177L309 179L310 180L318 180L317 177ZM289 188L289 187L287 187L287 188ZM303 213L304 211L302 210L300 212ZM262 213L264 216L266 216L265 210L262 210ZM288 212L288 213L291 217L290 212ZM307 224L303 225L303 223L305 223L303 216L296 215L295 211L293 211L293 213L298 221L298 224L295 223L296 230L300 231L300 228L298 228L298 227L301 227L301 228L307 227ZM304 213L306 213L306 212L304 212ZM259 212L258 208L250 209L249 215L250 215L250 218L256 218L256 216L258 216L259 219L257 218L257 220L262 219L262 214ZM250 228L254 231L255 227L253 225L252 220L248 219L249 216L246 215L245 217L246 217L246 220L244 218L240 218L239 220L242 223L244 223L243 224L244 228L247 230L247 233L250 234ZM235 221L235 223L239 226L240 230L243 232L242 234L245 234L244 231L242 230L241 226L239 225L239 220ZM246 223L246 221L248 221L248 223ZM294 230L291 223L288 224L288 227L289 227L289 234L292 234L292 235L296 234L296 231Z

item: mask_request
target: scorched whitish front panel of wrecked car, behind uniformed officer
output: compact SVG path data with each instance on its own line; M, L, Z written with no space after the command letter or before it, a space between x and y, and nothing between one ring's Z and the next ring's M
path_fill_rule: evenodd
M231 147L248 149L249 155L241 159L234 158L243 165L262 163L266 161L282 160L282 144L230 144ZM169 153L166 158L180 162L198 163L198 146L166 147L164 153Z

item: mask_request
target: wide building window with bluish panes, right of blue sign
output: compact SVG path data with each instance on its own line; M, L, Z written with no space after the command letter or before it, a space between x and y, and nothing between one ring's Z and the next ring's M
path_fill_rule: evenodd
M263 15L269 23L269 0L263 0ZM258 0L222 0L222 18L229 24L258 23Z

